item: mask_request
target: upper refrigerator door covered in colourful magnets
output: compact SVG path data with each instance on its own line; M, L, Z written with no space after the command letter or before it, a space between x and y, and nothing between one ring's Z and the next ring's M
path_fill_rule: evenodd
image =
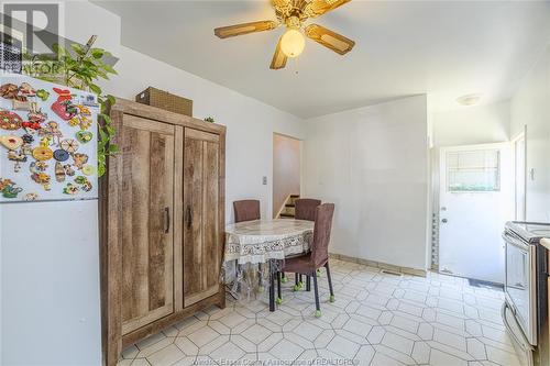
M98 112L92 93L0 75L0 203L97 198Z

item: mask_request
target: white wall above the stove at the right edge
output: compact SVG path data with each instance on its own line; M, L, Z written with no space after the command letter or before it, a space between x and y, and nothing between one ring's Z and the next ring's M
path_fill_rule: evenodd
M526 219L550 222L550 46L512 98L512 136L527 125Z

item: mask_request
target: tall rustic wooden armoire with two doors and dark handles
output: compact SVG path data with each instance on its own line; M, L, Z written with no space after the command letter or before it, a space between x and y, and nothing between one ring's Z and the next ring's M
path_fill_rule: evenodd
M117 99L101 179L103 355L226 306L226 127Z

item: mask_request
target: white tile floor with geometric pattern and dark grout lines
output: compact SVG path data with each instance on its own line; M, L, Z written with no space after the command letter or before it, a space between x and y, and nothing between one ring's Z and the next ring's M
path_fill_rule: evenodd
M519 365L501 321L502 291L340 260L331 269L337 301L328 302L323 270L320 319L314 292L293 292L289 281L273 313L267 293L250 302L228 297L224 310L209 309L124 350L119 366Z

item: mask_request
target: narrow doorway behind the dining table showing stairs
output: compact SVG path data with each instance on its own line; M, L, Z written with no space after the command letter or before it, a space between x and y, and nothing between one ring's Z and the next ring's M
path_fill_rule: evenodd
M301 141L273 134L273 218L294 217L294 200L300 195Z

